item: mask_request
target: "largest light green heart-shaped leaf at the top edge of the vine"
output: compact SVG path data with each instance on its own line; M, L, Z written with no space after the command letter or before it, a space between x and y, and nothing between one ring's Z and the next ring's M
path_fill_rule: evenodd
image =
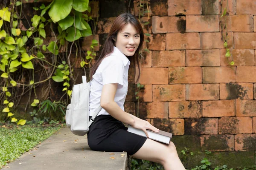
M49 16L53 23L66 18L70 14L72 6L73 0L55 0L49 10Z

